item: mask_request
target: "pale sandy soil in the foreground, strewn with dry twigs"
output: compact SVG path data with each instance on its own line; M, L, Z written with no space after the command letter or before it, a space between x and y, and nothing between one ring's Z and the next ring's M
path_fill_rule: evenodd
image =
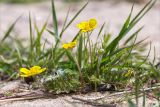
M40 90L27 90L25 89L26 85L22 83L21 81L12 81L12 82L0 82L0 95L3 93L12 93L11 96L17 96L17 95L25 95L31 94L31 92L36 92L38 94L42 93ZM9 95L9 94L8 94ZM43 94L44 96L45 94ZM79 100L74 100L72 97L81 98L81 99L95 99L101 96L106 96L105 98L99 100L99 103L101 104L110 104L110 106L100 106L100 107L128 107L128 104L126 102L120 102L121 99L124 98L125 94L122 95L116 95L112 97L107 97L109 94L108 92L99 93L99 92L93 92L88 94L67 94L67 95L52 95L52 97L42 97L42 98L36 98L31 100L21 100L18 99L16 101L16 98L14 101L10 99L1 100L0 97L0 107L92 107L91 104L86 104L84 102L81 102ZM26 98L23 96L23 98ZM34 95L39 96L39 95ZM49 96L49 95L47 95ZM22 97L21 97L22 98ZM125 97L126 98L126 97ZM89 101L89 100L88 100ZM93 101L93 100L92 100ZM95 101L94 101L95 102ZM119 102L119 103L115 103ZM139 99L139 107L142 106L143 98ZM115 106L117 105L117 106ZM146 107L153 107L158 106L158 102L154 98L146 98ZM99 106L98 106L99 107Z

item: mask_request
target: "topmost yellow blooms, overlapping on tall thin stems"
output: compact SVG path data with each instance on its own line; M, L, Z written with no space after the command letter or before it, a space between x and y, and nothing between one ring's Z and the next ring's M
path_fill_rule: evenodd
M89 21L83 21L79 24L77 24L77 27L82 31L82 32L88 32L97 27L97 20L92 18Z

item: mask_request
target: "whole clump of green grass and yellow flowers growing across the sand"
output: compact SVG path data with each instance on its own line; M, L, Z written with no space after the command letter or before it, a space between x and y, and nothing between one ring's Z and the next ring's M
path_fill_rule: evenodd
M53 30L47 28L48 19L39 29L29 15L29 42L23 45L22 41L12 37L9 39L15 41L15 45L12 46L7 42L1 43L1 71L11 77L16 73L25 80L38 79L37 84L43 85L46 90L54 93L110 90L103 85L110 84L113 86L112 91L124 90L129 86L135 91L136 99L138 99L139 90L149 84L152 79L158 80L160 74L159 68L148 60L151 49L148 55L141 54L145 51L146 44L143 43L145 39L136 41L143 27L138 28L132 34L130 32L155 2L156 0L149 1L132 18L133 5L122 29L114 39L111 39L111 33L105 32L105 23L100 27L99 32L94 34L98 21L91 18L77 24L79 29L77 35L65 43L62 39L64 32L88 3L71 20L68 20L68 11L63 27L59 30L54 0L52 0ZM9 37L14 24L2 41ZM36 35L33 30L36 31ZM52 44L48 44L47 40L42 41L44 32L53 36ZM96 42L93 42L93 36ZM121 43L122 41L124 42ZM46 48L46 45L50 45L50 48ZM19 68L21 68L20 71ZM13 73L14 69L16 72ZM37 75L40 73L43 75Z

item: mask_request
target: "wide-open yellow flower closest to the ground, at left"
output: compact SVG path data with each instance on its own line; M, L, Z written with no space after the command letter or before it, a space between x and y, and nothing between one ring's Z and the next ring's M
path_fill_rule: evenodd
M20 68L20 76L21 77L30 77L33 75L40 74L44 72L46 68L41 68L40 66L33 66L30 69L27 68Z

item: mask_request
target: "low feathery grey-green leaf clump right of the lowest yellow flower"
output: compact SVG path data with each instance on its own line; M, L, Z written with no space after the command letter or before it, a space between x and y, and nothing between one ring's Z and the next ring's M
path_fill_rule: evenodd
M56 94L75 92L80 86L79 74L70 69L58 69L56 74L45 77L44 86Z

